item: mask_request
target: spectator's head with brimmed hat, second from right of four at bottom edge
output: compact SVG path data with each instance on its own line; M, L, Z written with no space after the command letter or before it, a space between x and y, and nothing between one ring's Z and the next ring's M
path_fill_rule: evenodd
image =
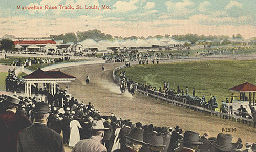
M180 152L194 152L198 148L198 145L202 144L202 142L199 142L199 139L199 133L186 131L183 139L178 139L183 144Z

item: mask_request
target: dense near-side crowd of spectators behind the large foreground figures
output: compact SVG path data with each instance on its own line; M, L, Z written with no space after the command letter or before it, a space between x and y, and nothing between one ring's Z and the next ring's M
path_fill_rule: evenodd
M153 135L161 137L163 140L162 148L158 148L157 151L179 151L184 148L182 142L183 136L190 132L183 130L176 126L173 127L160 127L154 126L153 124L143 125L140 122L133 123L130 119L123 120L120 117L115 116L113 113L106 116L94 107L90 102L85 104L83 101L78 101L74 97L70 97L66 94L65 90L58 89L58 93L65 97L63 99L63 106L59 103L48 103L51 110L50 116L47 122L47 126L63 137L63 143L74 147L76 143L83 139L89 139L91 137L91 127L94 121L101 120L105 128L104 137L102 144L106 147L107 151L114 151L117 149L124 148L127 144L126 137L134 128L143 130L143 142L148 143ZM4 101L7 95L0 96L0 114L4 113ZM18 115L27 117L31 122L34 121L34 115L31 113L37 101L33 98L19 97L19 107L16 112ZM221 133L222 134L222 133ZM219 135L218 135L219 136ZM217 137L218 138L218 137ZM196 151L215 151L215 146L212 146L209 141L218 140L216 137L210 137L208 132L205 132L200 139L199 146ZM151 141L152 142L152 141ZM155 141L156 142L156 141ZM241 151L243 144L239 138L236 143L238 146L235 148L236 151ZM251 150L255 151L255 144L246 143L246 148L250 147ZM252 148L253 147L253 148ZM139 151L151 151L150 145L144 144ZM233 149L234 150L234 149Z

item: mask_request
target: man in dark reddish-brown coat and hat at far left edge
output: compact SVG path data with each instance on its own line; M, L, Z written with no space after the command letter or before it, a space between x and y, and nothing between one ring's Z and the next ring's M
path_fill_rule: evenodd
M0 114L0 151L15 152L18 132L29 127L31 122L25 116L15 114L18 109L19 99L14 96L3 98L6 112Z

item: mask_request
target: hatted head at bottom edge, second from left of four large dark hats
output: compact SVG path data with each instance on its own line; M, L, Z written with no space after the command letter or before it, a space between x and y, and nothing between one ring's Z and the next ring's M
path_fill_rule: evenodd
M161 152L165 147L164 138L160 133L154 133L148 138L147 145L150 147L150 151Z

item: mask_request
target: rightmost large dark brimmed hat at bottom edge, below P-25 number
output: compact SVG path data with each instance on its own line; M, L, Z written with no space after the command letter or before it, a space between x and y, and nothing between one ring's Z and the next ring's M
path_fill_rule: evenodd
M232 143L232 136L230 134L220 133L216 141L209 140L209 143L221 151L233 151L238 148L237 143Z

